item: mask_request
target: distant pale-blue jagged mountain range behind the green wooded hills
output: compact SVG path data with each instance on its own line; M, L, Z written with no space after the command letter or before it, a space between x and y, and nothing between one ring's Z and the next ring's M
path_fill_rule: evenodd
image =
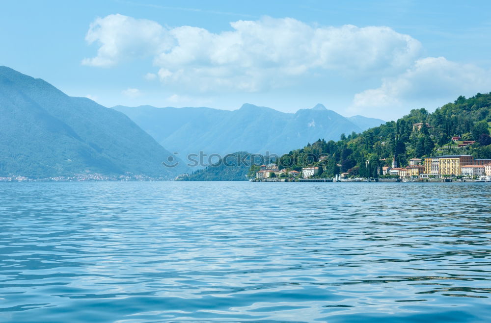
M247 103L233 111L148 105L113 108L125 113L161 145L172 152L180 152L181 156L199 151L223 155L244 150L279 154L319 138L337 140L341 133L365 129L322 104L312 109L300 109L297 113L283 113Z

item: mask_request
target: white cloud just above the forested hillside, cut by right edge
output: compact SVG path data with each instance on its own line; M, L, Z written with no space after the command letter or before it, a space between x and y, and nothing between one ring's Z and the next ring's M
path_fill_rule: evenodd
M404 73L382 79L382 85L355 95L349 111L353 114L373 109L409 110L414 102L443 104L459 95L470 96L491 89L491 71L472 64L460 64L444 57L418 59ZM399 114L397 114L399 115Z

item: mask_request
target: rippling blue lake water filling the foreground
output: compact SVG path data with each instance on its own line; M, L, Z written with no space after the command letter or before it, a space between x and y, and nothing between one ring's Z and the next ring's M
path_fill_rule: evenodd
M490 322L489 183L0 184L2 322Z

